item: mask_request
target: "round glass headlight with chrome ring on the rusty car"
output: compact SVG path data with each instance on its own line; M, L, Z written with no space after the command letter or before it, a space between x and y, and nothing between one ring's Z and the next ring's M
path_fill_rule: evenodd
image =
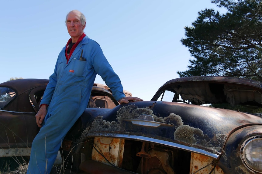
M240 156L243 163L252 171L262 173L262 138L252 136L241 146Z

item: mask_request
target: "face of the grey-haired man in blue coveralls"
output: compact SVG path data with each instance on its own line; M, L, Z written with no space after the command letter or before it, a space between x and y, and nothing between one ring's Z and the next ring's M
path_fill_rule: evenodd
M66 26L73 43L80 38L85 28L85 25L83 25L80 21L80 15L74 11L67 15Z

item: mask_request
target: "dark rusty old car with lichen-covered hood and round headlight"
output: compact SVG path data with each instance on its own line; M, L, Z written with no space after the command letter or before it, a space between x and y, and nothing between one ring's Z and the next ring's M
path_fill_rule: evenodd
M86 108L61 144L59 168L94 174L262 173L261 107L258 81L173 79L151 101ZM17 127L2 131L12 129Z

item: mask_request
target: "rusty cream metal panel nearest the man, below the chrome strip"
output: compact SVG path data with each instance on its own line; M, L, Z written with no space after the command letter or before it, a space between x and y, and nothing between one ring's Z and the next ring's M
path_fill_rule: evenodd
M92 160L121 167L124 145L124 139L95 137L92 150Z

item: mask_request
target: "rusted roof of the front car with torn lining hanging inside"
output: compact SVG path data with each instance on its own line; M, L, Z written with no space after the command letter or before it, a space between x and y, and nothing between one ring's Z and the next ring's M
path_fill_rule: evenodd
M152 100L165 90L180 94L193 104L230 103L262 106L262 83L235 77L182 77L166 82Z

